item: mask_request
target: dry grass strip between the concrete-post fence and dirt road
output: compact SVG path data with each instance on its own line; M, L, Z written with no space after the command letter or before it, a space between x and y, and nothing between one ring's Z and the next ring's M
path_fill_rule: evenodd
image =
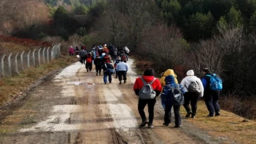
M47 75L50 71L63 68L75 61L76 57L61 56L49 64L42 64L39 67L27 69L17 76L3 78L0 81L0 105L8 102L12 95L18 95L35 80Z

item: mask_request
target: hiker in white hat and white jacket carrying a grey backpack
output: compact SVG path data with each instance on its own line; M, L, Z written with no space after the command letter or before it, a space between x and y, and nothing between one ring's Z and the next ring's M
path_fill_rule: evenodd
M186 75L180 83L185 90L183 106L186 109L186 117L190 117L192 114L192 118L195 118L195 114L197 114L197 101L199 97L203 97L204 95L204 86L200 78L194 76L193 70L187 71Z

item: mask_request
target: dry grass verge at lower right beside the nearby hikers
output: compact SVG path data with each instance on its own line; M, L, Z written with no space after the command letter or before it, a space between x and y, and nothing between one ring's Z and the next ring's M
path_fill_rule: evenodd
M181 109L185 116L185 109ZM228 138L238 143L256 143L256 121L243 123L245 119L231 112L221 111L221 116L207 117L209 112L203 101L198 102L197 117L186 121L195 124L197 128L206 130L214 138Z

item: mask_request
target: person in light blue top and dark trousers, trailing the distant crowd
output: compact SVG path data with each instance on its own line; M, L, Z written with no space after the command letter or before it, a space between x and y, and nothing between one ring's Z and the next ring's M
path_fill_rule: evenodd
M122 80L124 80L123 83L126 83L126 74L128 69L128 64L124 63L124 60L121 59L120 63L116 66L116 71L118 71L118 79L120 85L122 84Z

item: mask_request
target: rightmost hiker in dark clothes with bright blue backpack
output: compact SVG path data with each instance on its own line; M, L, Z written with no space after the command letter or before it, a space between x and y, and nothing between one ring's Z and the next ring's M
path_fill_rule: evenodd
M204 74L201 79L204 86L204 101L209 111L209 117L220 116L219 93L222 90L222 80L219 75L212 73L210 69L202 69ZM215 115L214 115L215 113Z

